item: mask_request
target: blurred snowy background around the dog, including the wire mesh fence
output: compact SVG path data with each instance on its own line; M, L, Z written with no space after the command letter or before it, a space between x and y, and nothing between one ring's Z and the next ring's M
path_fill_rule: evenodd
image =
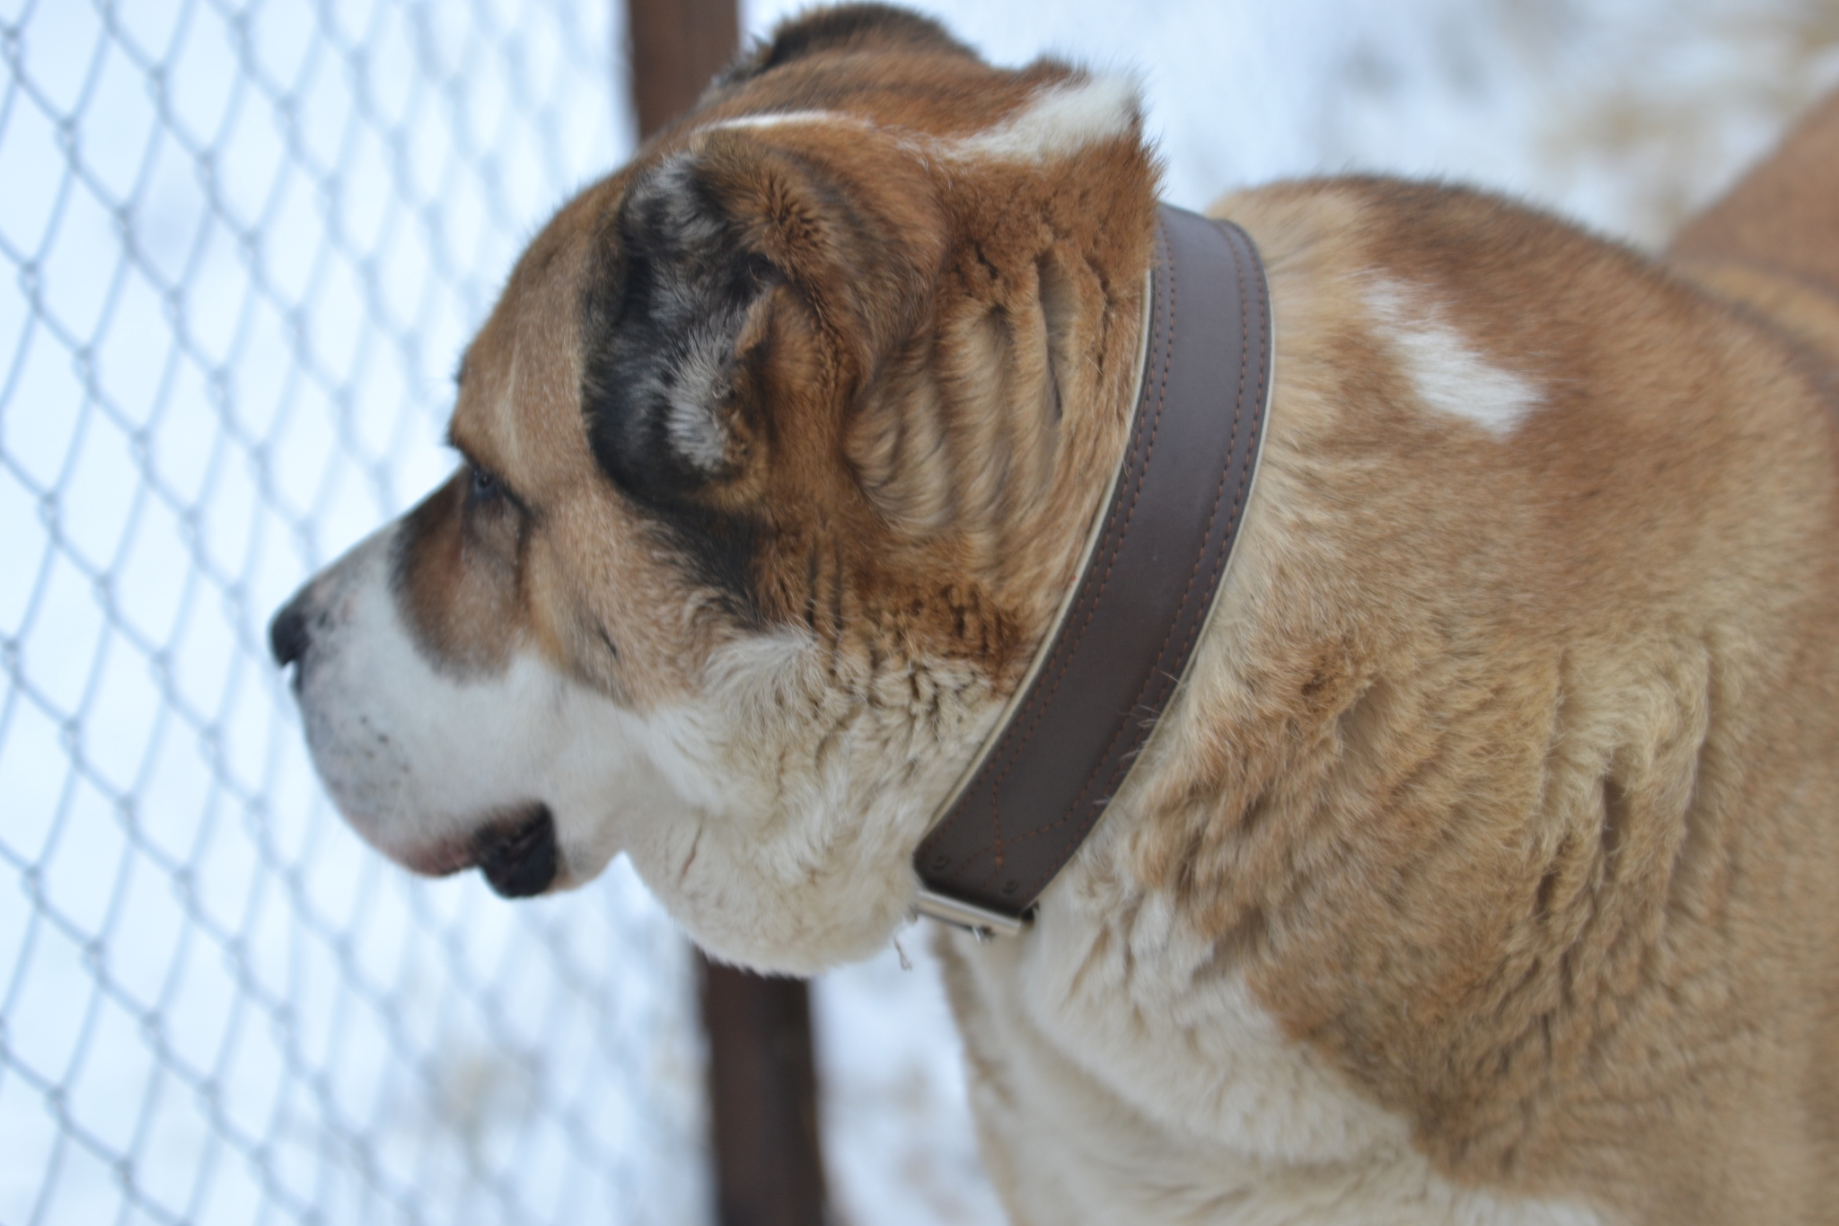
M1839 0L916 7L1135 72L1177 204L1429 175L1646 248L1839 83ZM717 1215L699 972L623 862L517 906L408 879L263 649L452 465L460 346L634 145L631 29L0 0L0 1222ZM829 1215L1000 1222L925 930L811 1029Z

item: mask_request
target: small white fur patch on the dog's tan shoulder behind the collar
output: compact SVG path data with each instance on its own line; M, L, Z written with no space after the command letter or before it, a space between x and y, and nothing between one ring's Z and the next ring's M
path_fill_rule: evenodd
M1427 408L1506 437L1543 403L1536 386L1475 353L1434 305L1420 305L1405 287L1381 279L1366 303Z

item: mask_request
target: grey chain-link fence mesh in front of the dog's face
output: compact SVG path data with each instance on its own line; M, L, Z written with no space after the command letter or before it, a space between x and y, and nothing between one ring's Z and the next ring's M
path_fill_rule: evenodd
M616 0L0 0L0 1222L704 1217L680 941L320 798L263 623L451 463Z

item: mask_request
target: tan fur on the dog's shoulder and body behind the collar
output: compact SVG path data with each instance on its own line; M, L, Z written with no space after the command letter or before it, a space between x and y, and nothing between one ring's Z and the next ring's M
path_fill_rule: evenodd
M1545 219L1388 184L1223 211L1271 259L1282 447L1238 686L1157 779L1144 880L1453 1176L1821 1220L1826 406L1767 333ZM1508 443L1411 421L1350 303L1379 270L1552 403ZM1311 491L1357 513L1324 533Z

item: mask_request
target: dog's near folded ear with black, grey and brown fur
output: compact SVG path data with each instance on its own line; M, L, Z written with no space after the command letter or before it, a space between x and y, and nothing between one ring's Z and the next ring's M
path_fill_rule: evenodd
M940 259L923 176L885 173L914 184L872 208L796 153L712 132L633 182L583 314L583 412L614 483L732 509L774 447L840 452L848 403L912 333Z

